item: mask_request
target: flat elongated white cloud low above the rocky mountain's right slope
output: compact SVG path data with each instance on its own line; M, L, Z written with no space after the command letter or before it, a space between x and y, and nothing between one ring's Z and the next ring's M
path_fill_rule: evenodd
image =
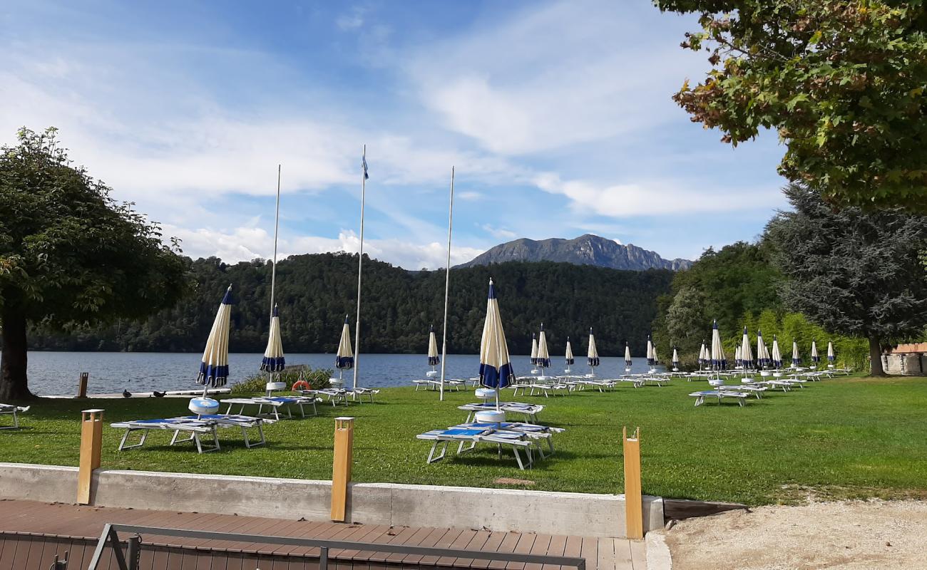
M569 198L574 211L613 218L771 209L781 202L779 188L706 188L704 182L692 181L679 183L656 179L629 184L594 184L584 180L563 181L559 175L547 172L540 174L535 184L545 192Z

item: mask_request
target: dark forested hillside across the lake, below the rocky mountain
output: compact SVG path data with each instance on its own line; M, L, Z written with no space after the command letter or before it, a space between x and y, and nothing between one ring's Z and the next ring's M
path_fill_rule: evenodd
M200 351L229 284L233 285L232 351L263 351L267 342L271 264L189 260L191 293L171 310L140 323L76 328L51 335L33 327L33 349ZM551 352L566 336L578 356L595 327L600 354L618 355L627 339L642 354L656 316L656 299L669 292L673 272L618 271L569 263L511 262L451 270L449 352L474 353L486 315L489 277L496 282L509 348L530 350L543 321ZM354 323L357 256L292 256L277 265L276 299L287 352L333 352L346 314ZM440 331L444 272L408 272L364 261L362 350L425 352L428 325Z

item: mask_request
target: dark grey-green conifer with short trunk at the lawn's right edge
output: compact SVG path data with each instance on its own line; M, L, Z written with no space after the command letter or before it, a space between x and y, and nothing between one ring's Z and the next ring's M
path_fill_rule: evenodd
M794 211L780 212L766 235L790 279L783 302L828 331L869 340L872 374L883 375L883 342L919 335L927 323L927 216L904 209L832 209L792 184Z

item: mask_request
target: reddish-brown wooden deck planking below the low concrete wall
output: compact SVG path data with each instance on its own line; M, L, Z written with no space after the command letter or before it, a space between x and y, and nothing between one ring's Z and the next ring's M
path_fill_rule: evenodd
M32 501L0 500L0 570L47 568L54 556L69 551L69 566L85 568L106 523L205 529L213 532L328 538L384 544L405 544L498 552L582 556L588 570L643 570L642 541L623 538L582 538L490 532L459 528L415 528L383 525L345 525L325 522L268 519L234 514L177 513L95 508ZM57 536L25 536L22 533ZM126 539L126 533L121 533ZM170 545L170 546L169 546ZM309 556L307 558L307 556ZM318 549L260 542L203 538L143 537L140 567L144 570L318 570ZM114 568L111 549L100 569ZM492 570L566 570L553 564L504 563L457 559L450 556L390 554L333 549L333 570L437 570L442 567Z

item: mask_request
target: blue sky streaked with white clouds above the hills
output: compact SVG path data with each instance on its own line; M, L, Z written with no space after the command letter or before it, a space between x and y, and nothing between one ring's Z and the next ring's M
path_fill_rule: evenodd
M705 71L649 2L6 2L0 142L54 125L184 253L364 250L409 269L594 233L696 258L784 207L773 133L670 99Z

